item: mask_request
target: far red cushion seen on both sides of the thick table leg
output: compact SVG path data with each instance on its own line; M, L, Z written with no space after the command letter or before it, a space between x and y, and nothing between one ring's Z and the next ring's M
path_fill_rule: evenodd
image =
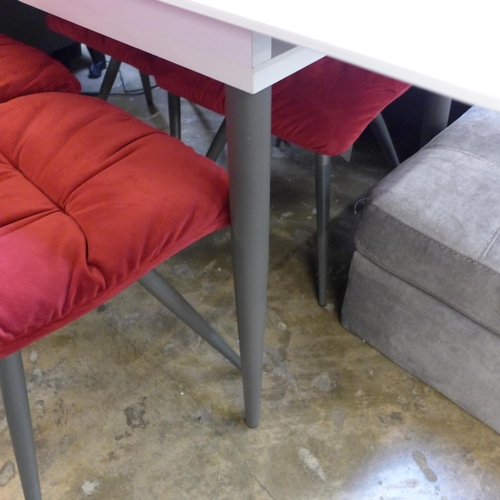
M225 113L222 83L161 59L153 74L168 92ZM339 155L409 87L325 57L273 86L272 132L316 153Z

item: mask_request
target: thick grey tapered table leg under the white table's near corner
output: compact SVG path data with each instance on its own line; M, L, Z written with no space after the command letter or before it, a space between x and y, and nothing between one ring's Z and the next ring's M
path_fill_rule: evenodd
M260 418L269 266L271 88L226 86L231 247L246 424Z

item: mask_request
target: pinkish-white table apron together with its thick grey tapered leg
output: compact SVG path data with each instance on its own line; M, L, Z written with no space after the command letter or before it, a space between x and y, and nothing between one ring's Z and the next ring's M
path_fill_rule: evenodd
M267 308L271 86L322 55L157 0L26 3L226 84L231 247L245 420L256 427Z

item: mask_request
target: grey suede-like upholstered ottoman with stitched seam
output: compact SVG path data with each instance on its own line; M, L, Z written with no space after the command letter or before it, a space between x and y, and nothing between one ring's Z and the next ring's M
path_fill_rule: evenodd
M500 432L500 114L472 108L370 195L342 324Z

